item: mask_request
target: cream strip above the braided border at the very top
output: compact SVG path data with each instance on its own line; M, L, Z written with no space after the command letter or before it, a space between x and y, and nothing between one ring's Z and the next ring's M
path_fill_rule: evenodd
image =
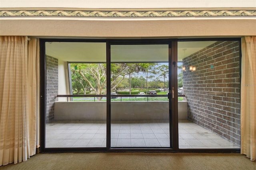
M255 0L1 0L1 8L235 8Z

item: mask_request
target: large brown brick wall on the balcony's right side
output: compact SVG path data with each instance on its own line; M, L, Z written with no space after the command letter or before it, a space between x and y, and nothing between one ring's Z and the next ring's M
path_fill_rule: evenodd
M183 66L188 119L240 145L240 43L218 41L184 58Z

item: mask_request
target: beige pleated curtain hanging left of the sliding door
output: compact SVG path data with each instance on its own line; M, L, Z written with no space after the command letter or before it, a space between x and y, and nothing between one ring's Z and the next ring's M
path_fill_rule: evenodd
M0 36L0 166L36 153L38 66L28 49L27 37Z

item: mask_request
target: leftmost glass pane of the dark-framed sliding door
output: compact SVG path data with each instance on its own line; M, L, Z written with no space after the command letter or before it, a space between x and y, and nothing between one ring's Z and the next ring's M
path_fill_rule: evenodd
M106 43L45 42L45 53L45 148L106 147Z

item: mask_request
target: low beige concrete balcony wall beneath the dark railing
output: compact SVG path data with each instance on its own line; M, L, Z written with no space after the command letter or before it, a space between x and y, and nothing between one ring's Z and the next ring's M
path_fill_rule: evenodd
M54 120L106 120L106 102L55 102ZM179 119L187 119L187 102L178 102ZM166 101L111 102L111 120L162 120L169 119Z

